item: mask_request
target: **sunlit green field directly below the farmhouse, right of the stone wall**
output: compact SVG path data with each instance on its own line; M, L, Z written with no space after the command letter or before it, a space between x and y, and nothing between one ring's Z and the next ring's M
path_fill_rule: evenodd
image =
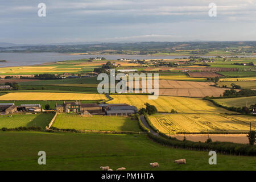
M59 129L101 130L101 131L141 131L138 121L130 117L109 117L92 115L81 117L77 114L58 114L53 125Z

